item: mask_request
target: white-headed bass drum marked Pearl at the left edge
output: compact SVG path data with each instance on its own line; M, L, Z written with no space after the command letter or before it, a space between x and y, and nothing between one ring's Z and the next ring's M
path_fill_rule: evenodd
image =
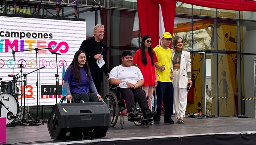
M14 116L17 115L19 104L16 98L9 93L0 94L0 101L3 103L1 109L1 117L6 117L6 125L9 125L15 120L15 118L10 118L10 116L12 114L14 114ZM9 108L9 111L6 108Z

